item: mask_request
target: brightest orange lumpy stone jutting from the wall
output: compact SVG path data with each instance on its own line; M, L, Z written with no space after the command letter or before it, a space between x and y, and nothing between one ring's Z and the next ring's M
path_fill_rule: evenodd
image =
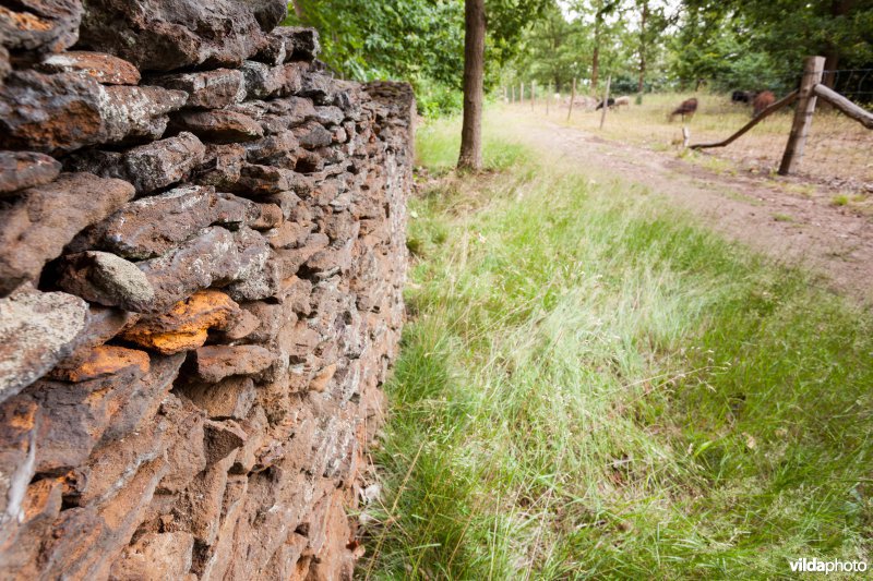
M225 330L239 315L239 305L227 294L203 290L176 303L169 313L140 319L122 338L170 355L202 347L210 329Z

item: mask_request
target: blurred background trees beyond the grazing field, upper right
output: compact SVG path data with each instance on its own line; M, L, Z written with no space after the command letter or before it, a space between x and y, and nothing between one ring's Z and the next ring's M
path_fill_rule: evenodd
M621 93L636 90L642 72L646 90L708 86L784 94L794 88L808 55L828 56L830 68L873 68L873 0L683 0L672 12L653 0L563 7L547 7L523 34L504 82L587 82L595 47L600 78L612 75Z

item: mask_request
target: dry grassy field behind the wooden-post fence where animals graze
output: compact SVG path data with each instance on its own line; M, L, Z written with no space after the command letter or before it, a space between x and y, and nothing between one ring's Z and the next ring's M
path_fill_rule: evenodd
M630 108L607 116L603 130L599 130L600 111L575 109L570 124L588 131L597 130L605 137L657 150L679 149L682 143L680 118L670 123L668 113L684 99L695 96L699 100L697 113L686 124L691 143L721 141L748 123L752 116L750 106L731 104L727 95L715 94L654 94L646 95L641 105L632 97ZM517 107L527 107L519 105ZM545 102L537 110L546 112ZM550 114L565 120L566 107L551 108ZM729 160L737 170L769 173L781 160L791 130L793 109L784 109L750 133L723 148L708 149L709 156ZM851 119L818 108L813 119L801 173L808 178L830 182L873 184L873 132ZM861 187L862 191L863 187Z

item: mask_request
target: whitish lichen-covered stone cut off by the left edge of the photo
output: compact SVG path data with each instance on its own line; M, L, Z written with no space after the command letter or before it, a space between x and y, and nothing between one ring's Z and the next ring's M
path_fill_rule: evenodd
M0 401L70 355L88 305L64 292L22 291L0 299Z

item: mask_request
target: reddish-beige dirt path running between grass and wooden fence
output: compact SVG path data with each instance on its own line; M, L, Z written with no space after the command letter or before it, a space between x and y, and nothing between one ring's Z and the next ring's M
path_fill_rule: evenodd
M510 113L526 141L586 171L642 183L701 216L731 239L825 276L834 290L873 305L873 220L830 204L830 193L785 191L756 175L607 141L545 118ZM808 189L809 190L809 189Z

